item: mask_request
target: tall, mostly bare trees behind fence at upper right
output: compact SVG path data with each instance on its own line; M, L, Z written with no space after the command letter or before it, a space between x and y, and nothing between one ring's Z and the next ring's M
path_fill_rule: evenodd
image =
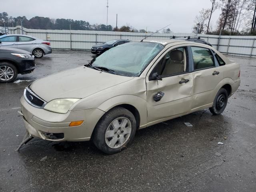
M196 16L193 32L198 34L256 35L256 0L210 0ZM215 25L212 14L220 9Z

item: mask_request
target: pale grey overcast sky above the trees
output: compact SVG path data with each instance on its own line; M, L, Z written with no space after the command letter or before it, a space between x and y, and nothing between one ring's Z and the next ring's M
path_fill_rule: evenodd
M34 16L85 20L90 24L106 24L107 0L0 0L0 12L9 16ZM15 6L14 6L15 5ZM108 0L108 24L130 24L140 29L156 31L171 24L173 32L192 32L195 16L202 8L210 8L210 0ZM215 26L220 11L214 12Z

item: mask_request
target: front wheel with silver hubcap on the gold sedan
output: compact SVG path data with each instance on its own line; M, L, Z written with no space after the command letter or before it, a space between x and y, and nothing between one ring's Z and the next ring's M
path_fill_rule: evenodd
M97 123L93 142L106 154L115 154L124 150L136 133L136 119L127 109L115 107L108 111Z

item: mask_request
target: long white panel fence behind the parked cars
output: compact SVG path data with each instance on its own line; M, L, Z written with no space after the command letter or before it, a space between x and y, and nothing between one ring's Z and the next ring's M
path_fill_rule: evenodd
M10 34L22 34L20 26L9 28ZM112 39L141 40L150 35L133 32L89 31L89 30L37 30L23 28L23 34L51 42L52 48L90 50L94 44L104 43ZM192 33L156 33L148 39L170 39L172 36L194 36ZM199 34L212 46L224 54L256 57L256 36L216 36Z

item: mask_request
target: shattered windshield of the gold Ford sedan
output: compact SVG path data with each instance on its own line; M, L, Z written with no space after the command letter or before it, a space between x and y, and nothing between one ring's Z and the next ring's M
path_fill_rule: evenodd
M152 42L130 42L116 46L94 58L93 67L108 69L122 76L140 76L143 70L164 48Z

